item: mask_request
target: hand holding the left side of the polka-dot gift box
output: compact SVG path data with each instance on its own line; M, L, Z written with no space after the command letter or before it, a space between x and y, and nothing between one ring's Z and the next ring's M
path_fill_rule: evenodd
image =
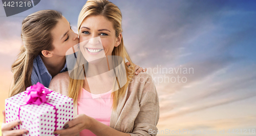
M25 129L17 129L17 130L12 130L12 128L14 126L17 126L19 124L22 124L22 121L20 120L15 120L15 121L11 121L6 123L5 120L5 111L3 111L3 115L4 115L4 121L2 124L2 136L7 136L7 135L21 135L21 134L27 134L28 131Z

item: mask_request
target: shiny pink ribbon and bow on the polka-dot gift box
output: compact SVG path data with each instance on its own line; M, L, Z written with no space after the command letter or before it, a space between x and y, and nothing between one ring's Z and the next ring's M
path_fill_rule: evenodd
M43 92L43 91L45 91L45 92ZM30 86L26 89L25 94L27 94L27 95L24 97L23 100L26 102L26 104L24 104L24 105L27 105L27 104L40 105L41 103L46 103L48 105L53 106L55 109L55 129L54 129L54 131L56 131L57 130L57 108L54 105L46 102L48 99L48 98L46 98L46 96L48 96L48 94L50 94L52 92L53 91L49 91L48 89L45 88L44 85L37 82L36 85ZM24 105L19 106L18 119L19 119L20 107L24 106ZM19 125L18 125L18 129L19 129Z

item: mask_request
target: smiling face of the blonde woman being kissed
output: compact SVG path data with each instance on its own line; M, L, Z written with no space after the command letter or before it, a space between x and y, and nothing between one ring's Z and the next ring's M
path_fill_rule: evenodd
M112 22L102 15L86 17L79 30L80 50L88 62L111 56L121 38L121 33L115 36Z

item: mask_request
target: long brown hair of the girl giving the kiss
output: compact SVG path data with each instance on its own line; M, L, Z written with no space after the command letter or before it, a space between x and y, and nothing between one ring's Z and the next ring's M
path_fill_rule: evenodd
M22 40L17 60L12 64L13 83L9 97L31 86L33 60L42 50L53 50L51 31L62 14L55 10L41 10L27 16L22 22Z

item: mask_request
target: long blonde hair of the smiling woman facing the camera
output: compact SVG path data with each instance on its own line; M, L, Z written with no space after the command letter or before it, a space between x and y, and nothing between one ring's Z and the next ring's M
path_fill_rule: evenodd
M78 32L80 30L80 25L82 21L88 17L88 16L96 16L96 15L102 15L105 18L107 18L109 21L113 23L113 28L115 30L116 37L119 36L119 34L122 32L122 14L120 9L114 5L113 3L107 1L107 0L89 0L87 3L82 7L82 10L78 17ZM126 84L119 88L117 91L112 92L112 99L113 99L113 105L112 108L114 111L116 111L118 101L119 99L125 94L125 91L134 76L134 64L132 63L124 45L123 45L123 38L121 39L121 43L119 46L114 47L112 56L120 56L122 57L123 61L125 61L125 58L131 63L130 68L128 68L125 65L125 71L126 71ZM86 66L85 66L86 67ZM84 67L83 67L84 69ZM81 69L80 69L81 70ZM81 71L77 73L82 73ZM69 84L69 97L74 99L74 102L78 101L78 97L81 91L81 88L83 87L83 81L82 79L73 79L70 78L70 84Z

